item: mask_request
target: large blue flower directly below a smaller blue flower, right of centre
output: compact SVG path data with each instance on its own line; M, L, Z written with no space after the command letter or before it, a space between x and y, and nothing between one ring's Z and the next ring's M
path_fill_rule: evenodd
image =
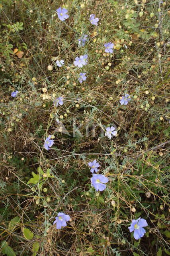
M92 186L94 186L96 191L103 191L106 188L106 185L103 183L107 183L108 181L108 178L102 174L94 173L93 177L91 178Z

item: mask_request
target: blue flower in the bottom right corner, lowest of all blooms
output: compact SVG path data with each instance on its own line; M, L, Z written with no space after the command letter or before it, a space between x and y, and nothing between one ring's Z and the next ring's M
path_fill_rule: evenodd
M129 227L129 231L133 232L133 230L135 230L133 234L134 238L140 239L146 233L145 229L143 228L146 226L148 226L147 221L144 219L141 219L140 217L137 220L132 220L131 226Z

